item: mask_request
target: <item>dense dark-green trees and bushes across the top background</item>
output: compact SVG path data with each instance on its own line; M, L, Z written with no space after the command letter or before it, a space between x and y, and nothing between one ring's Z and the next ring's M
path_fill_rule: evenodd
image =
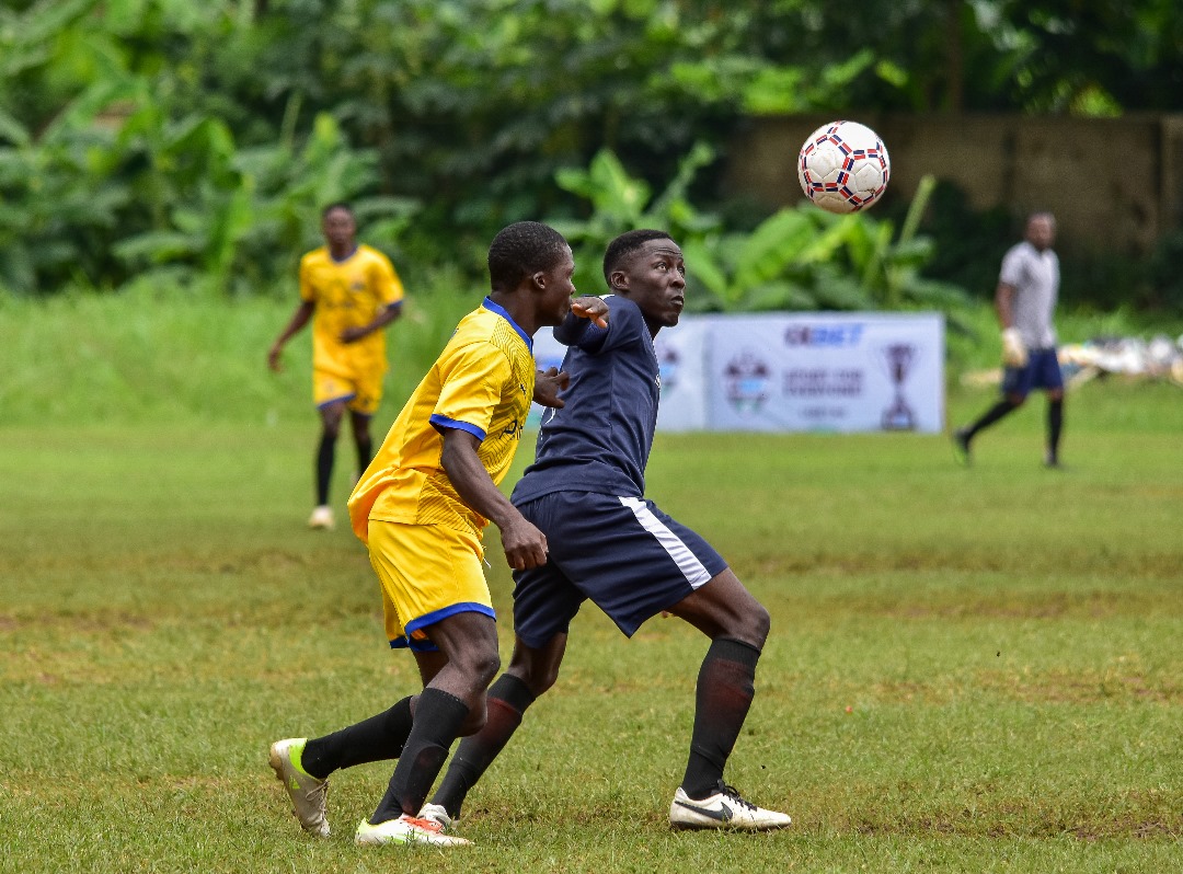
M166 271L269 289L340 198L366 205L363 233L403 270L476 277L504 224L587 218L563 168L609 150L675 190L746 115L1179 108L1171 0L930 6L13 0L0 7L0 285L110 289ZM712 202L719 162L698 169L711 212L668 218L735 232ZM842 283L826 293L848 298Z

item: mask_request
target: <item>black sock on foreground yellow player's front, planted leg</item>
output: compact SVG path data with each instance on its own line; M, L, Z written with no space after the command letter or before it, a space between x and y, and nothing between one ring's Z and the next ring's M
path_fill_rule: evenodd
M370 826L419 813L467 716L468 705L455 695L429 687L419 694L411 737Z

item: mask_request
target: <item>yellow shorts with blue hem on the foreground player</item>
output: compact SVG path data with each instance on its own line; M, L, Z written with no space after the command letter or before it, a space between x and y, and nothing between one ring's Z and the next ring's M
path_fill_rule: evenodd
M425 629L457 613L497 619L480 562L480 540L442 525L369 520L370 564L382 582L392 648L433 652Z

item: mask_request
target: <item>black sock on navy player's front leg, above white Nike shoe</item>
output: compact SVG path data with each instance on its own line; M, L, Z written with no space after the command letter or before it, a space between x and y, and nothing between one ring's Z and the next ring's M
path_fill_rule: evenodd
M735 746L756 694L759 650L730 637L717 637L698 671L694 731L681 789L691 798L718 791L723 768Z

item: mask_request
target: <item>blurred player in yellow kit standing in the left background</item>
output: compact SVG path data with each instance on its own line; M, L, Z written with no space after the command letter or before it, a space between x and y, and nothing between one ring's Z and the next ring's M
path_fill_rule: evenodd
M357 244L357 222L347 203L334 203L322 214L325 245L299 264L299 305L271 347L267 363L280 368L284 344L312 321L312 402L321 413L321 445L316 453L316 506L308 524L331 529L329 481L341 421L349 410L357 470L374 454L369 423L382 400L386 375L386 335L382 329L399 317L402 283L390 260L375 248Z

